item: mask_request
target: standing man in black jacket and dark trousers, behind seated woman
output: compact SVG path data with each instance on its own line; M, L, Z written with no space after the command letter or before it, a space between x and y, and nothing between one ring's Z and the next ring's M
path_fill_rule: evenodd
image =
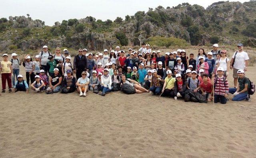
M85 55L83 55L82 49L79 49L78 55L74 57L73 66L74 66L74 73L76 73L76 80L82 77L81 74L83 71L88 70L88 62Z

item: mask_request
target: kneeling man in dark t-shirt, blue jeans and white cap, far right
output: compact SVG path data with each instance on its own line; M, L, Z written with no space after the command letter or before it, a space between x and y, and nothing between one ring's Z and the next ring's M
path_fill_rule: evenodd
M246 99L250 101L250 96L248 95L248 88L250 88L250 81L248 78L244 76L244 70L240 69L237 71L239 76L238 78L238 87L237 88L229 88L229 92L233 94L234 98L232 101L241 101Z

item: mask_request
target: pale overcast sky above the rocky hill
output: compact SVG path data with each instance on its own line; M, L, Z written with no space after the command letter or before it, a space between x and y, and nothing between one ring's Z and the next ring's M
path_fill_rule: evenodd
M0 18L9 16L26 16L30 14L33 20L40 19L46 25L54 25L56 21L81 19L92 16L103 21L116 17L125 18L138 11L148 11L157 6L177 6L184 2L198 4L207 8L220 0L0 0ZM230 0L230 2L233 0ZM239 0L248 2L249 0Z

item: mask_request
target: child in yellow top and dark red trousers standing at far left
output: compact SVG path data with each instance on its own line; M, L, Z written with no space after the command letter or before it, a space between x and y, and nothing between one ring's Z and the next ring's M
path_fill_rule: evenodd
M2 75L2 93L5 93L6 80L8 83L9 93L12 92L12 62L8 61L8 55L3 54L3 61L0 66L0 74Z

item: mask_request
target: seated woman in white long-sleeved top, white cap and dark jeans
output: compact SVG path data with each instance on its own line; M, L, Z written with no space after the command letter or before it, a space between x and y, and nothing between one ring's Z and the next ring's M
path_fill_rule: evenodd
M105 96L107 92L111 92L112 90L112 80L111 80L111 76L108 73L108 68L104 69L104 74L101 76L101 88L100 90L102 92L99 92L99 95L101 96Z

